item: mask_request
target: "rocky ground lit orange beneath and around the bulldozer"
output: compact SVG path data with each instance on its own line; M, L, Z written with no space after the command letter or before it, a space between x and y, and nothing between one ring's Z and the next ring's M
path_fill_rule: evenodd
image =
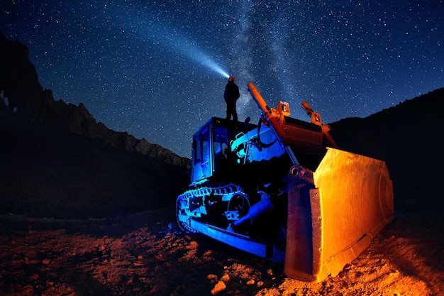
M396 218L334 278L174 227L172 209L114 219L0 216L0 295L444 295L444 222Z

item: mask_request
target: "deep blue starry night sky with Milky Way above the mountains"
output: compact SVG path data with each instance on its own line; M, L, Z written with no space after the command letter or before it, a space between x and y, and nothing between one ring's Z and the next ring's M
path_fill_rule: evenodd
M444 87L444 3L429 1L6 0L0 30L28 46L40 84L97 121L190 157L192 134L269 106L309 121L365 117ZM7 94L5 94L7 95Z

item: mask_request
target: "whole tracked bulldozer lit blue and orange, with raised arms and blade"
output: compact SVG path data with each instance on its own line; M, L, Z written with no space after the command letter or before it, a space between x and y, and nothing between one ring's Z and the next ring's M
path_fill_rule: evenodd
M270 108L254 84L257 124L212 117L194 133L191 183L177 197L184 231L284 264L319 283L340 273L394 219L382 160L340 150L311 106Z

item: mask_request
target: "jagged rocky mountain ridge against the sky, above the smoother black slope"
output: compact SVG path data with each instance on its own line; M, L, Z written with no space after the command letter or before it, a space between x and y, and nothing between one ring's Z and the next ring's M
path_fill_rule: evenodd
M171 150L139 140L126 132L116 132L97 123L84 104L79 106L55 101L50 89L38 82L35 67L28 58L28 48L18 41L7 40L0 34L0 111L21 116L28 122L80 136L96 139L109 146L137 151L165 163L190 167L188 158L181 158Z

